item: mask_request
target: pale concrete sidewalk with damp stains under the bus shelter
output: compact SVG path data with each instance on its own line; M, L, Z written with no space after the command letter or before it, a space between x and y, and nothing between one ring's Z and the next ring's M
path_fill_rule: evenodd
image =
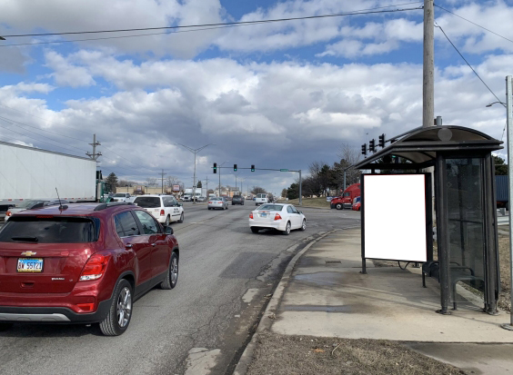
M477 298L458 288L458 311L440 315L435 312L440 308L437 281L428 279L423 288L420 269L374 267L371 261L367 274L361 274L360 253L357 228L327 234L298 254L257 334L268 330L287 336L405 341L410 349L468 372L513 371L513 331L499 327L509 321L506 313L480 311ZM245 352L241 362L248 360ZM236 373L244 373L240 369Z

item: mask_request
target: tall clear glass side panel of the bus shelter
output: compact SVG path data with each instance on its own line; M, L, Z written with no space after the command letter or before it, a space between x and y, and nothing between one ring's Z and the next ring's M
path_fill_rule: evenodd
M446 171L450 280L484 291L483 159L447 159Z

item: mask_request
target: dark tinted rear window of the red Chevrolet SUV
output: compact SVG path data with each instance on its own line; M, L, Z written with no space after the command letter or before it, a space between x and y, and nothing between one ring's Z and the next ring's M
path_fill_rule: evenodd
M99 225L99 224L98 224ZM13 217L0 231L0 242L96 242L95 223L77 217Z

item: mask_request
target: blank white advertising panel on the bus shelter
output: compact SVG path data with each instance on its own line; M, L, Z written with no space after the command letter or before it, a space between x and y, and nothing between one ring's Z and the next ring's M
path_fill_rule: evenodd
M364 175L365 258L426 262L426 176Z

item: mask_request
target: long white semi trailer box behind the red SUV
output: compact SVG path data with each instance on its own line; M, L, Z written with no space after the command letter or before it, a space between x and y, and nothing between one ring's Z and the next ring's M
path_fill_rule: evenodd
M55 199L57 192L68 202L96 202L93 159L0 142L0 161L0 210L25 200Z

